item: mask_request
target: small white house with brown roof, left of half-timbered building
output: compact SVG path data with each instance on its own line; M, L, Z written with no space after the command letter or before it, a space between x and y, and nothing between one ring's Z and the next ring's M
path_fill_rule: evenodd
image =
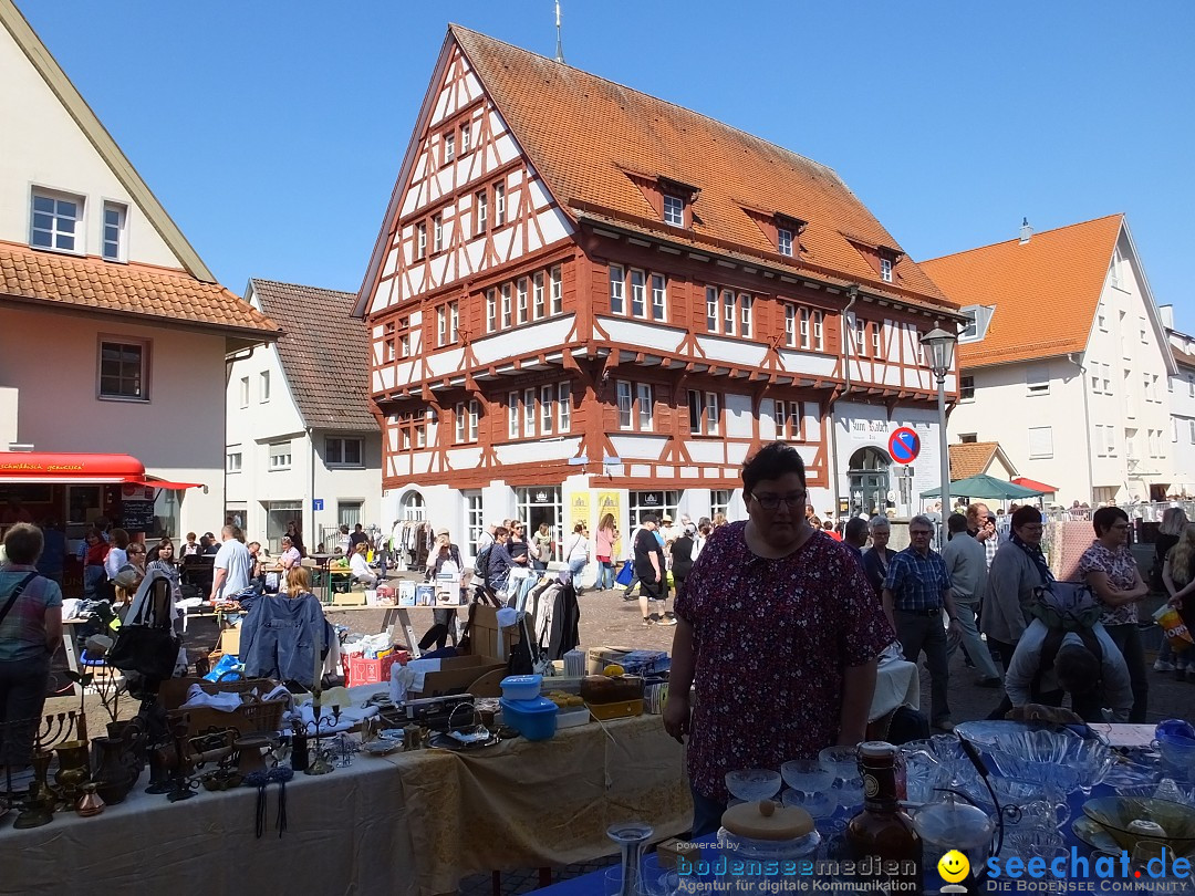
M253 278L245 300L278 321L277 343L238 356L227 385L226 515L277 551L287 522L308 551L341 523L379 516L381 430L369 409L356 295Z

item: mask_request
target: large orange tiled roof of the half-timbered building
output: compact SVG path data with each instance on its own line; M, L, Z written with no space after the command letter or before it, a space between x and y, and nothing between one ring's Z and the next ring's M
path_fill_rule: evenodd
M631 229L667 233L722 252L729 243L811 276L836 276L841 282L865 283L869 293L903 294L919 303L950 307L908 257L894 266L895 283L880 280L847 234L864 245L902 250L825 165L476 31L459 25L449 30L535 171L569 214L601 217L593 207L608 209ZM657 215L627 172L698 188L692 229L668 228L662 222L646 228L643 219L654 221ZM801 258L779 256L744 208L808 221L799 240Z

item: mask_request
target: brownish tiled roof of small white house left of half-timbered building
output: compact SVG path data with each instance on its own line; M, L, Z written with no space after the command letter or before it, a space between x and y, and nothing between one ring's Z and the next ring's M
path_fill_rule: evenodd
M282 324L278 358L304 425L378 432L369 411L369 335L349 317L354 293L272 280L250 281L262 311Z

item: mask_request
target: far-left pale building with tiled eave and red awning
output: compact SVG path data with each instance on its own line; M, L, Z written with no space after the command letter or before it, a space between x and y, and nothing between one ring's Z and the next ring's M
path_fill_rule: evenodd
M225 356L277 327L215 282L11 0L0 85L0 501L71 538L100 515L214 528Z

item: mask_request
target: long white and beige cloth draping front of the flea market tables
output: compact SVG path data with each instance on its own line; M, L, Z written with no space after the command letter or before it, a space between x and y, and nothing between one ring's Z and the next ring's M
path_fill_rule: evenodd
M461 877L613 852L606 827L642 818L663 839L688 828L681 747L658 716L595 722L551 741L484 753L358 755L287 785L289 829L253 835L257 791L200 791L171 804L141 793L94 818L0 829L0 894L453 892ZM11 816L10 816L11 818Z

